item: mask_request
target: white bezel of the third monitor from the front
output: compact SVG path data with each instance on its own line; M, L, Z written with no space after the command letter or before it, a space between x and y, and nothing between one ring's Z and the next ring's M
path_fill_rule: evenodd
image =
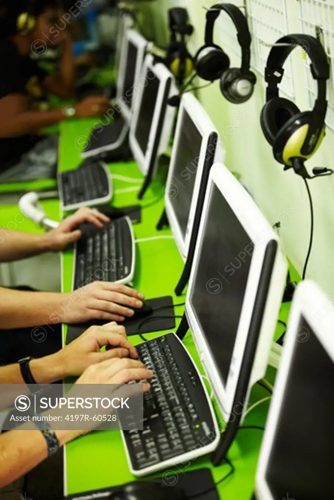
M175 241L177 244L177 247L181 253L182 258L185 260L188 254L189 250L189 243L191 239L191 232L194 224L194 218L195 218L195 213L196 213L196 207L197 207L197 201L198 201L198 195L199 195L199 190L201 187L201 179L203 175L203 169L206 161L206 157L208 154L207 148L208 148L208 141L209 137L212 133L216 133L217 136L219 137L219 133L215 126L213 125L212 121L210 120L207 112L203 108L203 106L200 104L200 102L196 99L196 97L191 94L191 93L185 93L182 97L181 100L181 106L178 114L178 119L177 119L177 125L176 125L176 131L175 131L175 138L174 138L174 144L173 144L173 149L172 149L172 155L171 155L171 161L169 165L169 170L168 170L168 177L167 177L167 182L166 186L168 187L169 185L176 184L175 183L175 167L176 167L176 159L178 155L178 149L179 149L179 144L180 144L180 138L181 138L181 128L183 124L183 118L185 113L187 113L196 126L199 134L202 137L202 142L201 142L201 147L200 147L200 153L198 157L198 165L196 169L196 179L195 179L195 184L194 184L194 190L191 198L191 204L190 204L190 210L189 210L189 216L188 216L188 221L187 221L187 228L186 228L186 233L185 236L183 237L182 231L180 224L178 222L176 213L173 208L173 202L172 199L169 195L169 189L165 190L165 206L166 206L166 212L168 216L168 220L172 229L172 232L175 237ZM194 158L195 160L196 158ZM225 151L221 147L221 140L219 139L217 141L217 144L215 146L215 155L214 155L214 161L215 162L223 162L225 159ZM178 179L176 179L178 180ZM178 180L182 184L182 180ZM182 188L179 188L176 184L176 187L178 191L177 195L181 194L182 195Z

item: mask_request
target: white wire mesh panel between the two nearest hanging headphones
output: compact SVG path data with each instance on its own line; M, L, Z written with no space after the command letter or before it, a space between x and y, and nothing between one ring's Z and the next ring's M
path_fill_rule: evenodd
M288 33L285 0L246 0L248 23L252 34L252 66L264 75L270 44ZM280 90L294 96L291 61L284 66L285 72Z

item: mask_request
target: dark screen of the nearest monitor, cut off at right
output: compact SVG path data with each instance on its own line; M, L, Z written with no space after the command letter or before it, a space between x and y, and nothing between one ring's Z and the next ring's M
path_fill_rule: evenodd
M301 318L266 480L275 500L334 497L334 364Z

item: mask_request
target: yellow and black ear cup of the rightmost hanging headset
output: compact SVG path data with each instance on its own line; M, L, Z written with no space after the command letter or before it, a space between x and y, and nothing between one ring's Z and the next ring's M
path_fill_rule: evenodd
M292 116L279 130L272 146L272 151L277 161L284 165L292 166L291 158L308 159L315 153L324 137L323 129L314 141L311 153L307 156L301 153L312 119L313 114L311 111L299 111L298 114Z

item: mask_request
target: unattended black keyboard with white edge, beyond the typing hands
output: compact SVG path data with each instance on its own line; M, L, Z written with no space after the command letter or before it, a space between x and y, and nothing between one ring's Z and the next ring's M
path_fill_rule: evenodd
M104 203L112 197L111 176L100 161L86 160L79 168L60 173L58 180L63 208L68 210Z

